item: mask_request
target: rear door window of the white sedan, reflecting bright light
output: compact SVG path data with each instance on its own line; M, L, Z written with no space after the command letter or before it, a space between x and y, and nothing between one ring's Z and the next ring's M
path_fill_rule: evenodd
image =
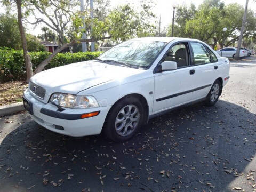
M211 57L201 43L191 42L191 47L194 53L194 65L201 65L211 62Z

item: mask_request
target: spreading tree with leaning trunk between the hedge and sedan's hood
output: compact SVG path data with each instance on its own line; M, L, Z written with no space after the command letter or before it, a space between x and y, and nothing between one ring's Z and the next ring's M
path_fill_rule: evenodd
M120 42L133 37L148 36L155 30L154 22L152 22L155 15L151 12L151 0L142 0L139 11L135 11L129 4L118 6L106 12L103 9L98 10L96 14L99 14L100 17L94 17L93 20L89 15L90 10L86 9L85 12L75 11L78 2L79 0L72 1L71 3L69 0L32 0L27 2L26 15L31 13L34 15L35 21L30 22L25 17L23 19L34 25L44 23L44 25L57 33L60 44L48 58L37 66L34 73L42 71L57 53L76 43L98 42L105 39ZM105 1L97 0L97 2L102 3ZM106 16L103 15L105 13L107 14ZM82 14L85 15L85 29L81 19ZM20 14L20 18L21 16ZM92 33L90 30L91 23L93 23ZM24 31L21 32L25 36ZM82 32L88 34L87 39L81 39ZM26 51L25 55L27 55Z

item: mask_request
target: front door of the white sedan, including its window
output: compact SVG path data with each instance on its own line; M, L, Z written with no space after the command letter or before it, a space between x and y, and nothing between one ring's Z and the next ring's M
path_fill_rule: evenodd
M166 110L193 99L197 73L190 65L191 53L189 52L188 42L182 42L170 47L165 56L158 64L163 61L177 62L177 70L161 71L154 73L155 93L153 102L153 113Z

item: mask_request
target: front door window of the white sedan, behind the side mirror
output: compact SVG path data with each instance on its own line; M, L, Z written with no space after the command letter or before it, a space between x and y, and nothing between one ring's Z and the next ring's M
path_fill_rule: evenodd
M188 66L189 62L187 44L177 44L172 46L168 51L163 61L175 61L177 68Z

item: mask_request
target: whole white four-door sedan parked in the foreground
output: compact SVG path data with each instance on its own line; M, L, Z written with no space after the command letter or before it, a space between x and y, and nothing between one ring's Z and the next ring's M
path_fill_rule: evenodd
M202 100L213 106L229 69L227 58L196 39L137 38L97 59L34 75L23 101L51 131L125 141L169 109Z

